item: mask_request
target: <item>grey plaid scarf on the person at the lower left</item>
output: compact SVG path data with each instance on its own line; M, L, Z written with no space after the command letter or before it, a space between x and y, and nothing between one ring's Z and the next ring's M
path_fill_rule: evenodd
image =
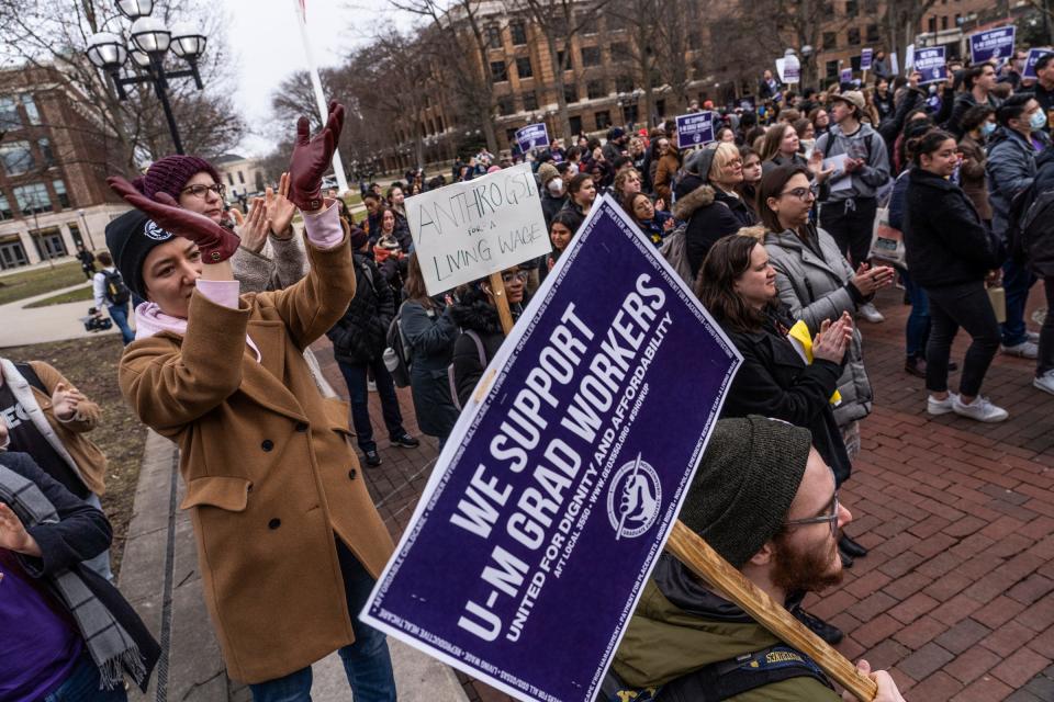
M3 465L0 465L0 502L7 503L26 529L59 521L55 507L41 488ZM146 665L138 647L80 575L61 570L48 576L48 585L77 622L99 667L102 688L113 690L121 686L123 671L141 683L146 678Z

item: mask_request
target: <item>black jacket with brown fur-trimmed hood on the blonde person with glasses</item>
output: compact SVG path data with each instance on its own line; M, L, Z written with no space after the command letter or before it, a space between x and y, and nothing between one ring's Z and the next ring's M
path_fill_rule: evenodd
M692 188L693 183L697 185ZM684 241L692 275L695 276L699 274L703 260L718 239L736 234L741 227L756 224L756 220L741 197L705 184L698 176L685 176L677 190L687 194L677 197L673 216L688 223Z

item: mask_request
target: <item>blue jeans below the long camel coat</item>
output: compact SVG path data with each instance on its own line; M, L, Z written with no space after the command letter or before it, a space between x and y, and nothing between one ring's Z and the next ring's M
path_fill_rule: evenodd
M358 618L375 580L339 537L337 557L344 576L351 630L355 632L355 643L344 646L337 654L344 663L344 672L351 686L355 702L395 702L395 677L388 641L384 634L363 624ZM311 681L309 666L283 678L250 684L249 690L254 702L311 702Z

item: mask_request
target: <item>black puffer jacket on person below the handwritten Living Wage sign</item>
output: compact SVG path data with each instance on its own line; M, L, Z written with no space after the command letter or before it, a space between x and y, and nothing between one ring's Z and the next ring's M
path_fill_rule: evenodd
M525 301L526 302L526 301ZM520 305L512 305L513 318L523 312ZM483 376L486 364L497 353L505 340L502 330L502 320L497 316L497 308L491 304L486 294L478 287L471 288L461 296L461 299L450 310L453 320L461 327L461 335L453 342L453 385L458 393L458 403L464 407L475 389L475 384ZM464 333L471 329L483 342L483 363L480 362L480 352L471 336Z

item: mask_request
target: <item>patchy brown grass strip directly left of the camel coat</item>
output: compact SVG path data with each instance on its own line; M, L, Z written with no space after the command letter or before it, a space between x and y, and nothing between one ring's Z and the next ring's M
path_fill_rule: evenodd
M83 280L79 264L77 273ZM146 428L124 404L117 388L117 361L123 350L121 337L113 335L3 350L3 355L12 361L51 363L81 393L102 407L102 421L89 437L110 461L102 509L113 525L110 559L114 575L124 555L143 446L146 443Z

